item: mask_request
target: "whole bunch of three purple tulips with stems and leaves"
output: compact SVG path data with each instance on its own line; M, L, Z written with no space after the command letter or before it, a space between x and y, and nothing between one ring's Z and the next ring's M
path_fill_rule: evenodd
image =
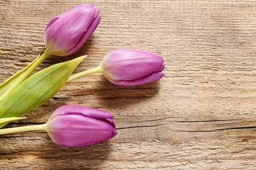
M154 52L117 49L103 57L99 66L73 73L86 56L54 64L31 73L50 55L72 55L85 44L100 23L99 8L90 4L75 6L53 18L46 26L46 51L27 67L0 84L0 128L11 120L46 103L68 81L101 72L117 86L136 86L158 81L164 76L164 60ZM30 76L31 75L31 76ZM104 142L117 135L114 115L85 106L62 106L43 125L0 129L0 135L31 130L46 130L63 147L83 147Z

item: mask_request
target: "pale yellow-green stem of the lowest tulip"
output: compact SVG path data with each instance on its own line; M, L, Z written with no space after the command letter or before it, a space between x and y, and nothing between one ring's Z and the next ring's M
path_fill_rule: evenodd
M15 132L33 131L33 130L46 130L46 123L41 125L29 125L29 126L21 126L16 128L0 129L0 135L15 133Z

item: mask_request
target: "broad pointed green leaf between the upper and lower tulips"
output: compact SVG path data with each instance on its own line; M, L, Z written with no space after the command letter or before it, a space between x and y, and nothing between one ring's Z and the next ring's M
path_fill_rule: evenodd
M86 56L54 64L19 84L0 103L0 118L17 117L32 111L52 98ZM0 128L5 124L0 124Z

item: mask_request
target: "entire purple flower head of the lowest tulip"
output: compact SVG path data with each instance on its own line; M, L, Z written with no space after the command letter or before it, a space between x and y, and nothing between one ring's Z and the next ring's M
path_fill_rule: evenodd
M58 108L46 123L50 138L63 147L94 145L117 135L114 115L85 106L68 105Z

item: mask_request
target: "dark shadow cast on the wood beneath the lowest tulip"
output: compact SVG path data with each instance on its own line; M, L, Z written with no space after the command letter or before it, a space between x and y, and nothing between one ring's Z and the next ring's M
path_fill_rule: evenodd
M90 164L90 169L96 169L105 162L112 150L110 142L79 148L65 148L55 144L50 147L50 151L38 153L47 169L56 169L56 164L61 165L60 169L87 169L85 164Z

